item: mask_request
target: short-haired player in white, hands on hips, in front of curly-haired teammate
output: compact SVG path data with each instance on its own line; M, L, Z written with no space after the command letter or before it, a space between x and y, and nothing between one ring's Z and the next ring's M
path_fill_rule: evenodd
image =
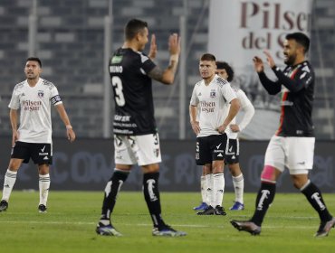
M196 133L196 164L204 165L206 183L211 186L207 187L209 206L197 214L225 215L222 206L227 141L225 129L236 116L240 105L229 82L215 75L214 55L204 54L200 59L199 70L203 80L197 82L193 89L189 114L192 129ZM225 103L231 104L227 115Z

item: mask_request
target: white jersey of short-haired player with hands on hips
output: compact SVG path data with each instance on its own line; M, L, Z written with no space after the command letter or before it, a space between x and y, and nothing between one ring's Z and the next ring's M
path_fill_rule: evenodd
M208 85L204 80L196 83L190 105L199 109L200 133L197 137L220 135L217 127L225 122L225 103L230 103L234 98L236 95L230 83L217 75Z

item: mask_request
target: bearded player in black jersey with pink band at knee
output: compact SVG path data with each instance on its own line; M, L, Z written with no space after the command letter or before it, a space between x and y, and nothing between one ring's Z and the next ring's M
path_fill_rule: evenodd
M313 166L314 133L311 109L314 93L314 71L305 60L310 39L303 33L289 33L283 43L286 68L282 71L274 63L269 52L267 61L276 75L276 81L269 80L263 69L263 61L254 57L254 68L263 87L269 94L282 91L282 115L280 126L267 147L261 189L256 198L256 209L251 220L231 220L237 230L253 235L261 233L265 213L272 203L276 181L285 166L289 169L295 188L299 189L319 213L321 224L315 237L325 237L335 225L335 218L327 210L321 191L308 177Z

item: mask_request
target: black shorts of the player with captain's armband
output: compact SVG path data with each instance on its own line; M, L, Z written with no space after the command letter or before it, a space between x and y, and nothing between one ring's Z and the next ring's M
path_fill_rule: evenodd
M11 157L24 159L24 164L28 164L30 158L34 164L53 164L52 145L50 143L15 142Z

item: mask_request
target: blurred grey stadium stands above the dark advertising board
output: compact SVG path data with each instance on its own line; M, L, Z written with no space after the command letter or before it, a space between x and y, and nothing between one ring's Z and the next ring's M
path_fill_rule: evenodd
M124 24L136 17L148 21L149 32L156 33L157 63L162 68L168 65L168 35L184 31L186 68L183 73L179 70L174 86L155 84L154 97L161 139L194 139L188 124L188 101L199 80L198 58L207 51L209 5L209 0L2 0L0 136L11 136L7 105L14 85L24 80L25 59L34 54L43 61L43 78L58 87L77 136L108 137L104 113L109 112L113 103L103 101L105 52L121 46ZM109 25L110 34L105 29ZM106 35L110 37L107 49ZM234 31L227 36L234 36ZM317 138L334 140L333 0L312 4L310 60L317 76L313 112ZM181 85L185 89L180 89ZM255 90L260 88L257 85ZM184 98L180 99L179 94ZM257 101L254 105L257 110ZM53 136L64 136L64 126L54 111L53 117Z

